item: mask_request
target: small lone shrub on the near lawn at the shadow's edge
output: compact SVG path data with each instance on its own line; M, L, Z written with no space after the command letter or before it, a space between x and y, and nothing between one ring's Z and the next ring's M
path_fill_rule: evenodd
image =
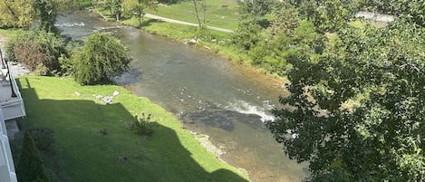
M151 114L145 116L145 113L141 113L140 118L136 115L134 120L130 122L130 130L136 131L140 136L150 136L153 133L150 119L152 119Z

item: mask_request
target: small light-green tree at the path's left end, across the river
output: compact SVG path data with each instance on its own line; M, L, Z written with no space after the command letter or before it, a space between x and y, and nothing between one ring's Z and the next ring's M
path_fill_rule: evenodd
M127 16L136 14L139 20L139 26L143 23L145 10L148 8L156 9L158 6L157 0L124 0L122 2L123 13Z

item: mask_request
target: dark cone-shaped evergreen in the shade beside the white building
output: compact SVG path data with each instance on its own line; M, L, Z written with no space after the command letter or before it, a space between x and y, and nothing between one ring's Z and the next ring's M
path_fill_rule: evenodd
M43 159L28 131L24 133L24 143L16 173L18 180L23 182L50 181L44 169Z

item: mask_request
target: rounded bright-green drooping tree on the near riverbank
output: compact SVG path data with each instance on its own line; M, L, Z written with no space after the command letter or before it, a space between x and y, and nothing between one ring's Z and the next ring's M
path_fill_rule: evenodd
M75 81L97 84L109 81L109 75L126 71L130 62L127 48L109 34L95 33L73 61Z

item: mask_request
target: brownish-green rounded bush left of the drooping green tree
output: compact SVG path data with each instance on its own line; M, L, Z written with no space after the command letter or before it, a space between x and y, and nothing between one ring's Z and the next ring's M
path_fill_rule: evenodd
M43 71L43 75L60 71L58 58L67 55L63 40L43 31L17 35L6 44L6 53L10 61L21 62L31 71Z

